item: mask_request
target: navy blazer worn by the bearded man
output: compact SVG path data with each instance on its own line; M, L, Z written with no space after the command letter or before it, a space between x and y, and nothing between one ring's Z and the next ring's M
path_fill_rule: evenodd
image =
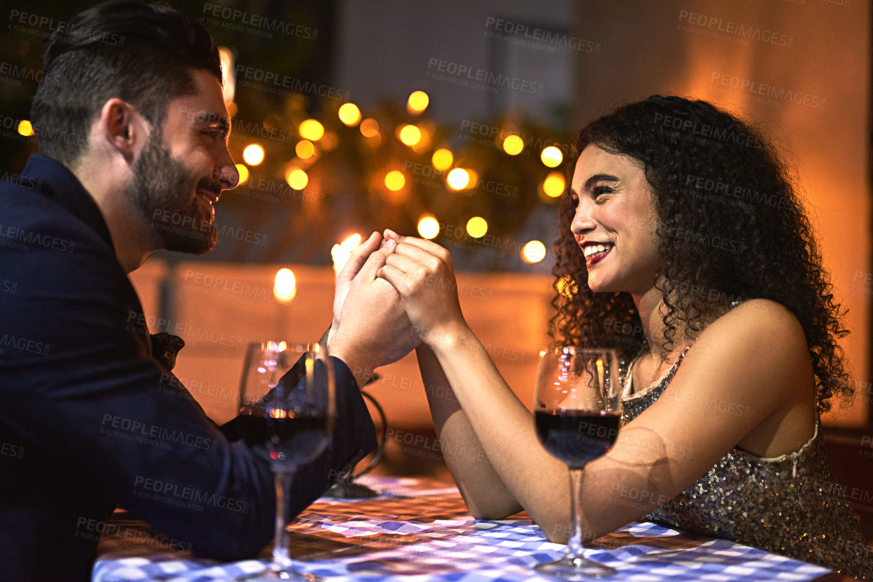
M32 155L0 183L0 579L89 579L116 505L210 558L272 539L270 467L152 356L141 312L93 198ZM292 515L376 445L333 362L333 442L297 471Z

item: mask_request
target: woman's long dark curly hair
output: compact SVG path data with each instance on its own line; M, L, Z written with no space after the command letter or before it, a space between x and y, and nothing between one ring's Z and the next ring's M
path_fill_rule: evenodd
M705 101L653 95L584 127L581 152L596 145L642 163L658 224L664 356L684 328L694 339L733 301L784 305L806 334L819 412L853 390L837 340L849 333L821 267L821 253L794 175L760 130ZM563 195L554 246L551 336L556 344L614 347L627 361L648 346L629 293L588 288L585 258L570 230L573 195ZM641 236L650 230L640 225ZM649 235L650 236L650 235Z

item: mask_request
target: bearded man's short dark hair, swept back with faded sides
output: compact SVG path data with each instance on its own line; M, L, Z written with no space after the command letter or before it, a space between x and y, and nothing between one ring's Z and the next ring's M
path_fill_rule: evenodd
M83 10L45 45L45 77L31 106L39 152L73 166L108 99L123 99L160 132L171 99L196 92L192 69L219 79L210 33L167 5L107 2Z

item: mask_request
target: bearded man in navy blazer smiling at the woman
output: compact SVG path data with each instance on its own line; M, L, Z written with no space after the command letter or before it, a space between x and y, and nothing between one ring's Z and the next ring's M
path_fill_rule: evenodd
M168 7L100 4L52 35L45 76L65 83L33 100L40 154L0 184L0 278L14 282L0 292L0 579L88 579L116 505L198 554L251 557L272 538L269 466L162 390L178 386L177 348L129 326L127 273L157 249L212 249L213 204L237 185L217 48ZM339 419L295 476L295 515L375 447L358 386L416 338L375 279L379 243L338 279ZM141 438L168 434L182 438Z

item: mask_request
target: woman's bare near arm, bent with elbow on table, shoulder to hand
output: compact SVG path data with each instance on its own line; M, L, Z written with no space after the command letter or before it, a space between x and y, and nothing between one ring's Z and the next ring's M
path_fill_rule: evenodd
M464 323L457 297L451 301L426 293L425 281L454 277L448 252L411 240L398 245L380 276L401 293L505 490L547 537L566 540L567 467L540 446L532 414ZM800 401L797 387L812 394L800 324L780 305L757 301L766 309L734 310L702 332L698 345L717 349L692 349L661 398L622 428L607 455L588 463L582 495L586 537L614 531L676 496L771 414ZM813 407L808 416L808 431L787 431L793 436L783 439L781 452L796 450L811 435ZM443 448L456 438L469 434L447 434L443 428ZM481 479L476 469L453 468L465 495L474 500L488 496L493 483L492 476Z

